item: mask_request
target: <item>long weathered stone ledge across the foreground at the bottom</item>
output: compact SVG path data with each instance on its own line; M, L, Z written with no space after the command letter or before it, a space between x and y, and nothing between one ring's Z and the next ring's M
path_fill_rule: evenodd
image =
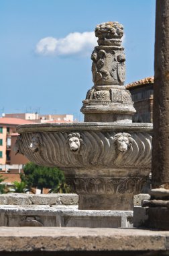
M166 252L168 238L169 232L167 231L140 229L1 227L0 252Z

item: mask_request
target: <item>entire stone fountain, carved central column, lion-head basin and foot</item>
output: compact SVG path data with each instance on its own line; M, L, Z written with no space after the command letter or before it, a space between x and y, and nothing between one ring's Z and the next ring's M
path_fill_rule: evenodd
M79 210L128 211L149 179L152 125L132 123L135 108L123 86L123 26L103 23L95 35L94 86L83 100L84 123L19 125L16 148L36 164L64 170Z

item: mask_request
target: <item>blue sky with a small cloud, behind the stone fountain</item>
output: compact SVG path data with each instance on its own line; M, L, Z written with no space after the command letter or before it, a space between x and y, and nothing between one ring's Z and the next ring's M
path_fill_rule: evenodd
M91 32L107 21L124 26L125 84L154 75L155 0L1 0L0 114L38 110L82 121L93 86Z

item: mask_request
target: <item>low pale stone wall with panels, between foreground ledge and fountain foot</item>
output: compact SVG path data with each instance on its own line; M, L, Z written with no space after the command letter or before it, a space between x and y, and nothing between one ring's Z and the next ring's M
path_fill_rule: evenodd
M78 210L76 205L0 205L0 213L0 226L133 226L133 211Z

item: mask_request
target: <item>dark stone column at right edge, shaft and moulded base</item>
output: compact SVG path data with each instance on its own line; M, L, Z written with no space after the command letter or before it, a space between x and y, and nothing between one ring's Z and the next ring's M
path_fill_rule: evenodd
M144 226L169 230L169 1L156 1L152 190ZM137 213L135 212L137 215Z

